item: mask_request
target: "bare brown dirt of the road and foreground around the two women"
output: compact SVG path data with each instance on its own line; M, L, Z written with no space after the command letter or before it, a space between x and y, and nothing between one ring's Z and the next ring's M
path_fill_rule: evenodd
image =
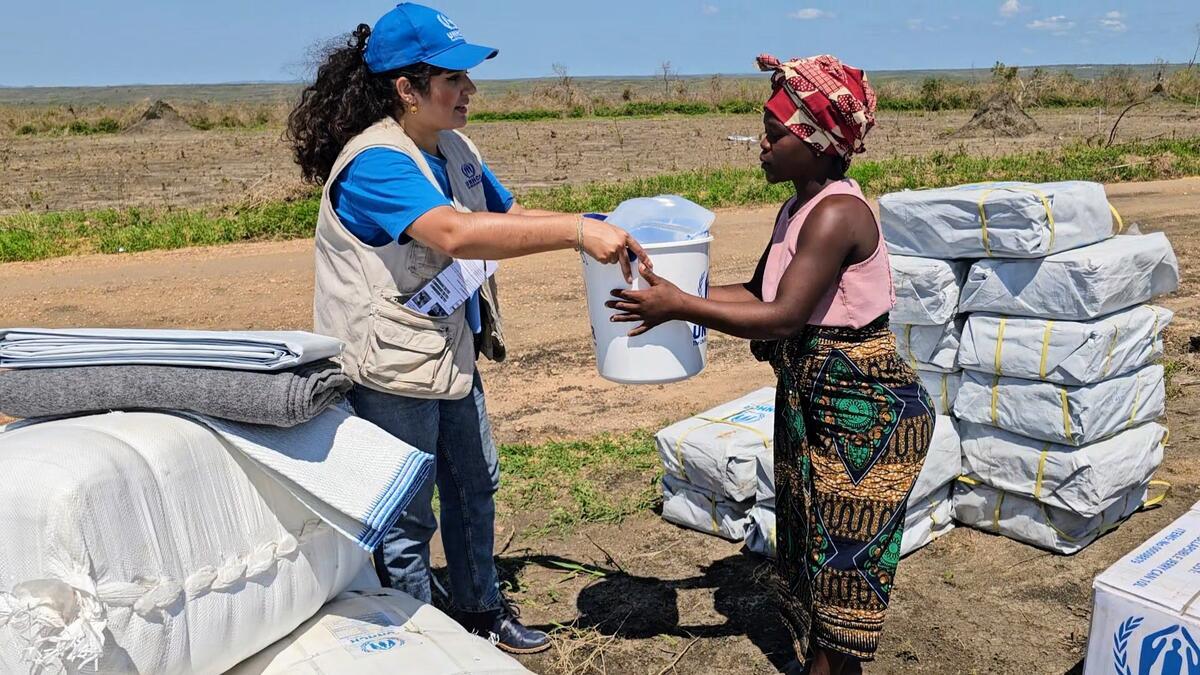
M1160 300L1177 312L1168 356L1181 365L1168 406L1171 446L1158 473L1174 484L1171 497L1070 557L968 528L950 532L901 565L878 661L868 671L1078 673L1092 578L1200 500L1200 420L1190 414L1200 404L1200 359L1186 353L1188 338L1200 333L1200 273L1188 264L1200 255L1200 178L1114 185L1109 195L1127 221L1166 232L1183 265L1181 291ZM749 275L773 213L719 214L714 282ZM656 428L772 384L743 342L721 336L712 338L706 371L688 382L606 382L595 372L576 256L510 261L498 274L512 357L482 371L500 442ZM6 264L0 288L0 325L307 328L312 243ZM528 622L594 629L588 634L602 649L590 671L659 673L674 662L678 673L757 674L786 662L787 639L755 584L762 560L740 544L654 513L565 537L528 537L529 520L500 514L502 565L520 578ZM624 573L588 580L553 566L613 569L610 555ZM556 650L523 662L540 673L569 671L563 656Z

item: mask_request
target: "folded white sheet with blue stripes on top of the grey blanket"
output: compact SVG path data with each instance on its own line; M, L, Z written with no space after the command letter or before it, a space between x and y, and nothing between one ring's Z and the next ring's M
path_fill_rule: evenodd
M0 329L0 368L143 364L283 370L341 352L341 340L300 330Z

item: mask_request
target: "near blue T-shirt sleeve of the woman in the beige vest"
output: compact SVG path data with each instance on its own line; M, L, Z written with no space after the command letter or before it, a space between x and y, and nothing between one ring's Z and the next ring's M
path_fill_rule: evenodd
M342 225L368 246L404 243L404 231L430 209L450 199L430 184L416 163L388 148L364 150L330 190Z

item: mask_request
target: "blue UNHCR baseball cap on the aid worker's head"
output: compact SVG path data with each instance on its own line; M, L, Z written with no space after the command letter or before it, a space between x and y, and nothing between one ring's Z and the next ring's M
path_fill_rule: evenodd
M498 53L499 49L463 40L458 26L442 12L415 2L401 2L376 22L364 58L367 70L373 73L422 62L464 71Z

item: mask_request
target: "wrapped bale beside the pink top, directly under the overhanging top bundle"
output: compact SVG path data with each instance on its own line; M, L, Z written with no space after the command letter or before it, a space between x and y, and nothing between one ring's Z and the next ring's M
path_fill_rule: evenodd
M959 292L971 263L913 256L890 256L896 304L893 323L942 325L959 313Z

